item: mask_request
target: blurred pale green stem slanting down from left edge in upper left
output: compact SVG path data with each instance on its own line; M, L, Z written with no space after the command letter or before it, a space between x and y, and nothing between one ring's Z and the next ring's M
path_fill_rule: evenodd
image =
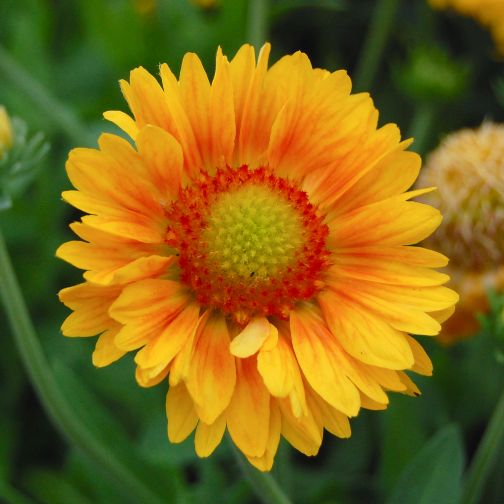
M0 70L22 89L72 142L87 147L96 146L96 138L80 123L74 111L51 96L1 45Z

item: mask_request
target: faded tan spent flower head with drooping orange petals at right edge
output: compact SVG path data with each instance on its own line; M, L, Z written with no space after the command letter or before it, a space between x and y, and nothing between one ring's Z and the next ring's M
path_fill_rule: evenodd
M452 343L478 331L474 314L489 310L486 290L504 289L504 125L484 122L449 135L418 183L438 187L422 200L444 215L425 243L451 258L447 273L460 303L439 339Z

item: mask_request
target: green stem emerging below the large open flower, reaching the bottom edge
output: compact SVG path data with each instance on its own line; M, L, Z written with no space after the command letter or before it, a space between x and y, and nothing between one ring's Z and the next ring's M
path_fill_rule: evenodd
M285 492L278 486L273 476L268 472L255 468L247 458L238 450L231 436L226 432L227 440L233 451L234 457L254 493L264 504L292 504Z

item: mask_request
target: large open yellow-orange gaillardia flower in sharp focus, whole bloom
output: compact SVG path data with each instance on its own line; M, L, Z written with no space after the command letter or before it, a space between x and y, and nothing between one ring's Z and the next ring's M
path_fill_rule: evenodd
M419 394L403 370L432 366L408 333L437 334L458 299L430 269L447 259L407 246L442 220L408 201L425 192L405 192L411 142L376 128L346 72L301 52L268 70L269 52L219 48L212 84L192 53L178 81L161 65L162 88L143 68L122 81L135 119L104 116L136 148L104 134L70 153L63 197L91 215L57 251L87 270L60 292L63 333L101 333L97 366L140 349L140 385L169 374L172 442L196 428L205 457L227 426L262 470L280 434L315 455L385 391Z

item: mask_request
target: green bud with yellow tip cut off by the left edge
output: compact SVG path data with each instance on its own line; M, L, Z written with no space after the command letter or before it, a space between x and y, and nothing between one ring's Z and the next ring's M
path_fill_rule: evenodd
M49 150L44 134L27 140L26 122L9 117L0 105L0 210L11 208L12 199L21 194L37 176L39 161Z

